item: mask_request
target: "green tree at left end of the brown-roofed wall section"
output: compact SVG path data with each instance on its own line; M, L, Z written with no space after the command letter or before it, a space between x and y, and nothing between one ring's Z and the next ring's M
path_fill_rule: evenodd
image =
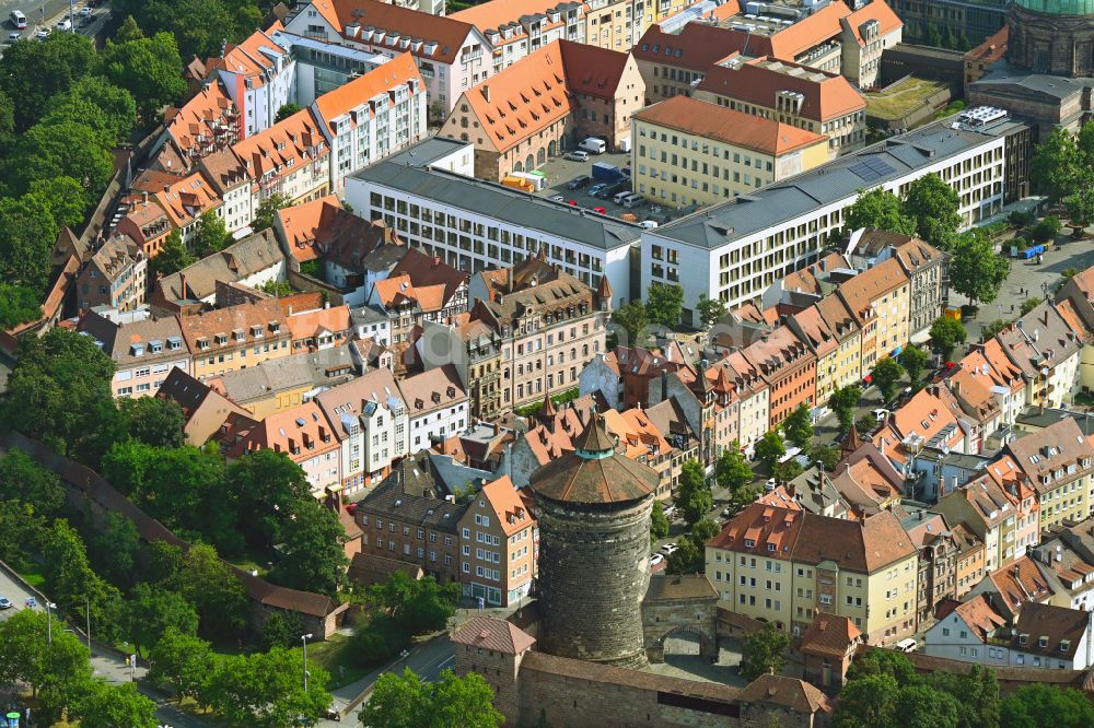
M173 586L194 604L203 634L234 637L246 624L243 585L211 545L190 547Z

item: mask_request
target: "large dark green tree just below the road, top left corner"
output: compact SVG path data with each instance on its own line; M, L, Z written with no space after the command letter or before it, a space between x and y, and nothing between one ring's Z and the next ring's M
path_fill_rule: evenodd
M97 67L95 47L78 33L54 33L42 43L15 43L0 59L0 89L15 104L15 131L34 126L57 94Z

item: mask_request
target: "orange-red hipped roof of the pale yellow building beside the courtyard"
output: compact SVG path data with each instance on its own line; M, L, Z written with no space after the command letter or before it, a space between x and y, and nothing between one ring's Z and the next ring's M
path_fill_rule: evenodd
M631 115L648 124L779 156L823 143L827 137L775 119L736 111L690 96L673 96Z

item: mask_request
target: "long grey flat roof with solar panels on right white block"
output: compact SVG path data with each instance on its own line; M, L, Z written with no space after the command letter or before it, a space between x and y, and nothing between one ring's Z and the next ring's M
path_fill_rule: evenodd
M872 189L976 149L998 138L1003 128L1013 128L1013 122L1004 121L980 131L955 130L950 128L951 121L943 119L755 192L699 210L662 225L654 234L701 248L719 248L838 202L859 190Z

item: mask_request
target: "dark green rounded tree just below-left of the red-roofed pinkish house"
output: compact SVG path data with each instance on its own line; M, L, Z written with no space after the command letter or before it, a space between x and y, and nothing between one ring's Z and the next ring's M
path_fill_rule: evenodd
M301 503L314 502L300 466L284 453L258 450L228 466L225 482L237 494L237 522L247 543L271 549L284 540L289 516Z

